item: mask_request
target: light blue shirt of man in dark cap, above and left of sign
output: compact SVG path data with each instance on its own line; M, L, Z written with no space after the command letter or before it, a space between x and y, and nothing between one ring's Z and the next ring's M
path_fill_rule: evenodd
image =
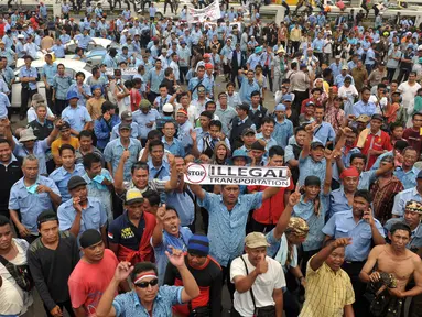
M104 150L104 158L107 163L111 163L113 174L117 171L117 166L119 166L120 157L125 150L120 139L110 141ZM132 168L132 165L138 162L138 154L142 150L141 142L130 138L127 150L130 152L130 157L125 162L123 179L129 182L132 178L130 170Z

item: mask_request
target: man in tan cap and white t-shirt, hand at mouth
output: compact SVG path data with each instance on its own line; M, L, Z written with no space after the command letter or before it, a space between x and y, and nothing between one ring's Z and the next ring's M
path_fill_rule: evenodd
M281 316L283 314L284 272L280 263L267 256L267 238L251 232L245 238L245 255L231 262L230 280L235 284L231 316Z

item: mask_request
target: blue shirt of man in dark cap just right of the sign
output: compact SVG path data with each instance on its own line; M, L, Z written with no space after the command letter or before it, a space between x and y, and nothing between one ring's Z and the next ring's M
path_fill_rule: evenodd
M302 170L301 170L302 171ZM328 209L328 195L320 194L320 210L315 214L314 201L304 201L304 196L293 207L293 217L301 217L306 220L310 231L306 240L302 243L304 251L317 250L323 245L324 233L321 231L325 222L325 214Z

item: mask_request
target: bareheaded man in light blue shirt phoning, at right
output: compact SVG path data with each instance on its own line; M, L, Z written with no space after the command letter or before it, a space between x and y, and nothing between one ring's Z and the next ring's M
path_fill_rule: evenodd
M370 204L372 197L368 190L357 190L354 196L353 209L336 212L323 228L325 240L353 237L354 243L346 247L343 269L350 276L356 302L354 309L357 316L367 316L367 305L364 293L365 285L359 280L359 272L364 267L371 243L385 244L385 233L381 223L374 219Z

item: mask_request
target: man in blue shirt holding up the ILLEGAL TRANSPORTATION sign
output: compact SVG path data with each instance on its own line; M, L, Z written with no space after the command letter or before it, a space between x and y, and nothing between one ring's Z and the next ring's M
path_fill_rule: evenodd
M220 195L205 192L199 185L190 184L190 187L198 198L198 205L208 211L209 254L221 265L223 278L227 278L232 298L235 287L230 283L230 263L242 254L249 210L260 208L262 201L279 193L280 187L268 187L241 197L239 185L221 185Z

